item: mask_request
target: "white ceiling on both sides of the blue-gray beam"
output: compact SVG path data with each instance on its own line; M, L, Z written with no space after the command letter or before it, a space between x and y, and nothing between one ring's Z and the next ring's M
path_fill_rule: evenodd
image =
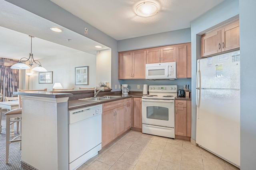
M156 0L160 10L150 18L136 16L134 12L134 7L144 2L143 0L51 1L114 39L122 40L188 28L190 21L224 0ZM49 28L53 26L60 27L63 32L50 31ZM35 59L78 51L95 55L96 50L99 49L94 46L100 45L5 0L0 0L0 57L10 59L29 57L28 35L35 37L32 39L32 53ZM102 49L108 49L102 46Z

